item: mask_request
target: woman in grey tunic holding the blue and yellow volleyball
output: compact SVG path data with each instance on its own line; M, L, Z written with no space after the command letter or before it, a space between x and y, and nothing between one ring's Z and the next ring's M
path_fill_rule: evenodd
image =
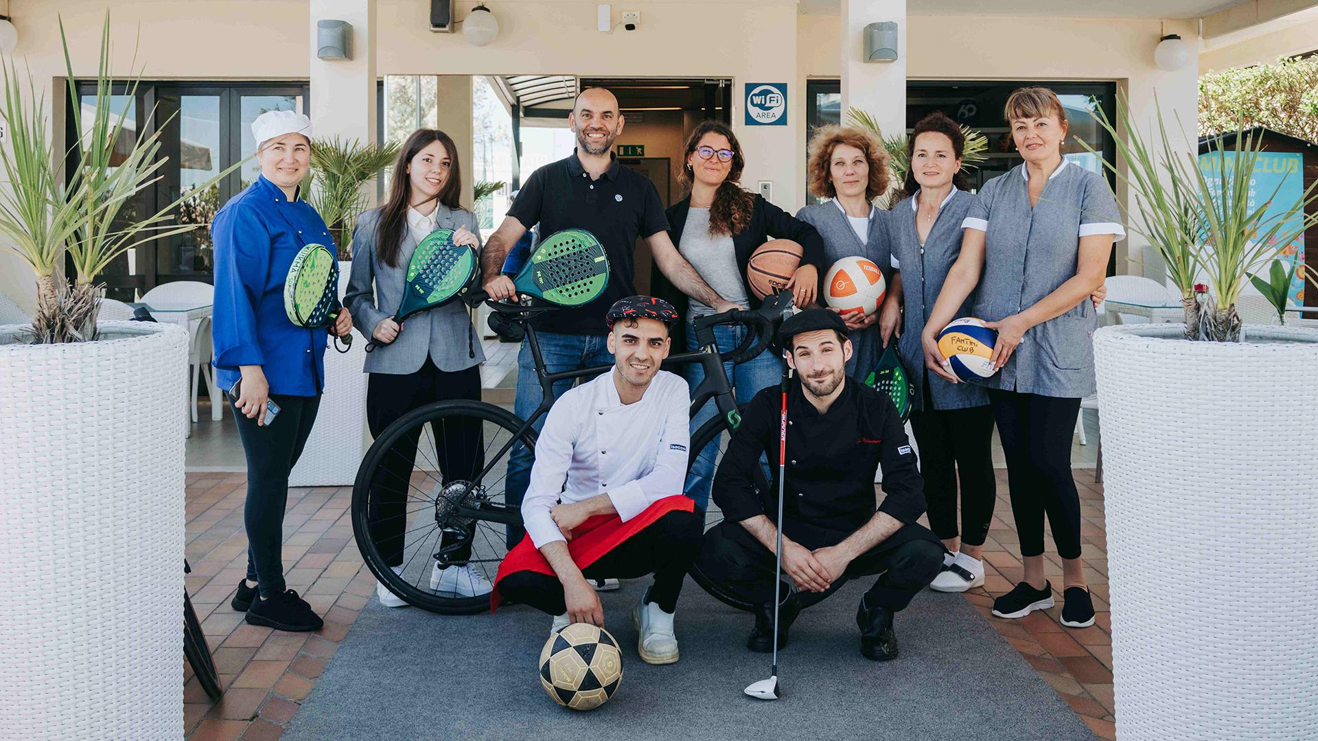
M1006 117L1025 161L979 191L921 343L927 368L954 380L934 338L975 291L974 315L998 331L998 372L986 385L1025 567L1024 580L998 597L992 612L1015 618L1053 605L1044 578L1046 514L1062 558L1062 625L1085 628L1094 622L1094 605L1079 562L1070 442L1079 400L1094 393L1098 319L1087 297L1103 283L1112 243L1126 229L1107 181L1062 158L1066 113L1053 91L1012 92Z

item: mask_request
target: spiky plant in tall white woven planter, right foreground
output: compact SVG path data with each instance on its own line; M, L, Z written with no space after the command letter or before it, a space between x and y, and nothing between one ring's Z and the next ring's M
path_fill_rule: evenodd
M1313 225L1314 187L1267 216L1259 140L1201 163L1161 116L1144 131L1120 99L1118 119L1098 120L1124 170L1104 165L1186 306L1094 336L1118 737L1298 738L1318 724L1318 331L1242 326L1236 301Z

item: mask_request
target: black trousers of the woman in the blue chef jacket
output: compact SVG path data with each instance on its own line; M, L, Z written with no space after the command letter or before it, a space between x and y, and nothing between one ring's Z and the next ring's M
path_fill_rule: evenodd
M289 504L289 472L293 471L320 409L320 396L270 394L279 414L269 426L248 419L229 401L248 464L248 496L243 525L248 535L249 581L262 597L283 592L283 510Z

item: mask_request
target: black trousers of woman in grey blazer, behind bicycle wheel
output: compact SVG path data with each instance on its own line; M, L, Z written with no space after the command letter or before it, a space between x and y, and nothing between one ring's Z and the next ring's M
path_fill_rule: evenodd
M415 373L370 373L366 381L366 425L370 434L380 436L399 417L418 406L444 400L480 400L481 369L477 365L463 370L440 370L427 356ZM370 488L370 538L376 542L385 563L402 566L406 546L407 514L416 510L420 501L430 501L439 481L471 480L485 467L481 425L478 419L451 419L443 425L431 423L435 440L434 456L419 451L420 429L401 438L380 461ZM419 483L411 481L414 468L427 472ZM439 472L439 481L428 472ZM420 517L434 517L422 512ZM430 537L430 530L426 537ZM444 564L464 564L472 555L471 534L463 530L444 531L440 551L457 546L440 559Z

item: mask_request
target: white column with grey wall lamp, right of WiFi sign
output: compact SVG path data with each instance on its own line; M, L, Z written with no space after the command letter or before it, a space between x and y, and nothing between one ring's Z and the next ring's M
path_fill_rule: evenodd
M865 61L865 26L898 24L898 59ZM842 0L842 123L850 108L869 112L884 136L905 131L907 3L905 0Z

